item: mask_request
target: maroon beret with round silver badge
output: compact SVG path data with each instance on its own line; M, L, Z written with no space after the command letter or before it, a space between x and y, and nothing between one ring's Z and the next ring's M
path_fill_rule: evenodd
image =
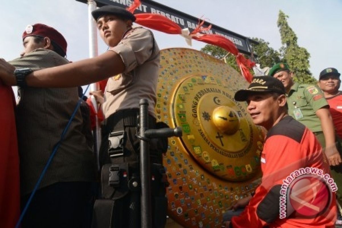
M49 37L66 53L66 40L60 32L50 26L43 24L28 25L23 33L23 40L28 36Z

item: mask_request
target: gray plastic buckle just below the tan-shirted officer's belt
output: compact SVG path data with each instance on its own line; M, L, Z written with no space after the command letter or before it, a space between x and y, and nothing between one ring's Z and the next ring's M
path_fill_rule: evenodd
M125 131L111 132L108 136L108 155L110 158L123 156L127 136Z

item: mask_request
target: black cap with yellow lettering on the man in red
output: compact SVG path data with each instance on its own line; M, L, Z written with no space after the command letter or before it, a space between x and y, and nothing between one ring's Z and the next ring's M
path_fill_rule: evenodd
M254 77L246 90L239 90L235 93L234 99L237 101L246 101L251 92L276 92L286 94L282 82L269 76Z

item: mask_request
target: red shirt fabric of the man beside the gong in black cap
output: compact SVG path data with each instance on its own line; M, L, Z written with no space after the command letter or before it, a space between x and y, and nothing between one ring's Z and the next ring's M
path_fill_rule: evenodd
M297 142L284 135L272 135L266 139L262 155L261 169L263 172L262 183L255 191L245 210L232 218L232 227L261 228L267 225L257 213L260 202L264 199L269 190L275 185L282 185L295 170L305 167L313 167L330 174L329 165L325 154L321 152L321 146L315 135L305 128L301 142ZM324 161L324 162L323 162ZM336 221L336 197L332 193L332 203L327 212L315 217L303 217L293 212L289 217L280 219L277 217L268 227L293 228L293 227L335 227ZM267 202L271 204L272 202ZM279 202L277 203L279 207Z

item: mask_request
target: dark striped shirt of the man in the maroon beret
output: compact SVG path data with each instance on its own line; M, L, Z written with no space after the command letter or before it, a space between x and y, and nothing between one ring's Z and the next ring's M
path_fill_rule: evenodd
M39 70L69 63L54 51L37 49L10 61L16 68ZM20 158L21 194L30 193L78 102L77 88L20 89L16 125ZM82 134L82 116L77 111L40 188L69 181L93 181L95 158Z

